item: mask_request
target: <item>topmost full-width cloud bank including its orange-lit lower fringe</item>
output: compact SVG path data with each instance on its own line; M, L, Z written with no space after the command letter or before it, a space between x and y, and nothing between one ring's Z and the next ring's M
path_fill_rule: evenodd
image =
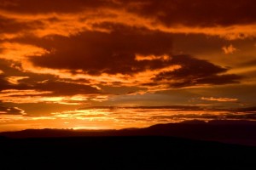
M236 3L231 0L196 0L192 3L185 0L128 0L117 1L118 3L111 0L6 2L15 5L0 6L3 15L2 39L27 34L36 37L69 37L85 30L112 31L111 26L102 26L105 23L144 27L169 33L206 34L228 39L256 35L253 0Z

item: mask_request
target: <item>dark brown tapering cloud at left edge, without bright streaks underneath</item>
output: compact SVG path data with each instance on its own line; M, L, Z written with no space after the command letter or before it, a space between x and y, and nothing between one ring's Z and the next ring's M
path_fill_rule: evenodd
M1 66L1 63L0 63ZM96 88L86 85L86 80L77 80L66 82L66 79L59 79L58 77L47 74L35 74L26 72L12 72L7 69L5 65L4 71L9 71L6 74L0 74L0 91L1 90L37 90L39 92L51 91L52 94L40 94L40 96L61 96L61 95L75 95L75 94L102 94ZM12 84L8 81L8 77L27 77L21 79L17 84ZM84 84L81 84L84 82ZM26 95L26 94L24 94ZM37 94L36 94L37 95ZM0 99L1 100L1 99Z

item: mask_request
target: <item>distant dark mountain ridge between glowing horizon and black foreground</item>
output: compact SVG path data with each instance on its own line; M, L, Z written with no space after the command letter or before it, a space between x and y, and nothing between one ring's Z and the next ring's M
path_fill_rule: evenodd
M218 141L256 146L256 122L253 121L185 121L157 124L145 128L121 130L27 129L4 132L5 138L61 138L103 136L170 136L184 139Z

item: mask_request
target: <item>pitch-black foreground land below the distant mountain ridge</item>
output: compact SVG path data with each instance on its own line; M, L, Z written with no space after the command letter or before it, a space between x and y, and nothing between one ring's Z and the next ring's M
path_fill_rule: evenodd
M1 169L256 167L256 148L171 137L1 139Z

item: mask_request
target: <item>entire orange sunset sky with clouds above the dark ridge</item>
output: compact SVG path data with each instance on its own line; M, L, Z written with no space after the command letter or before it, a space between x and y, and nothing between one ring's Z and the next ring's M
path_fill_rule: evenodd
M0 131L256 120L253 0L1 0Z

